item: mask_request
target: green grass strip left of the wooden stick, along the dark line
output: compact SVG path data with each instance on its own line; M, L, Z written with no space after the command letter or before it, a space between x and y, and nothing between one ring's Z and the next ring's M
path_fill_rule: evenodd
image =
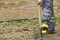
M16 19L16 20L8 20L8 21L4 21L2 22L3 24L6 25L16 25L16 24L30 24L30 25L36 25L38 24L38 19L37 20L20 20L20 19Z

